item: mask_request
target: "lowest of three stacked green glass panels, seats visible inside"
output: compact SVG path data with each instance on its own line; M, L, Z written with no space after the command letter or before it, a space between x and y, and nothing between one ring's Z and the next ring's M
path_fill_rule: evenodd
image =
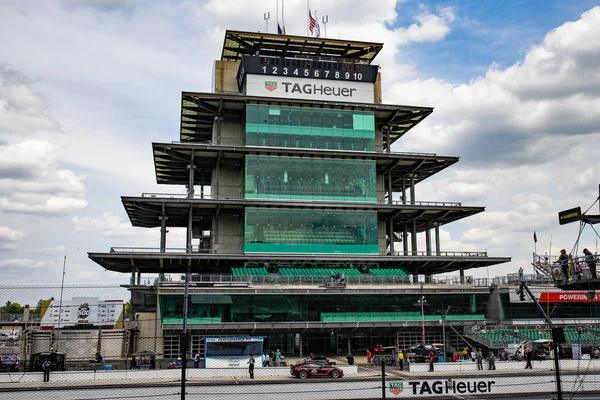
M377 212L246 208L244 251L376 254Z

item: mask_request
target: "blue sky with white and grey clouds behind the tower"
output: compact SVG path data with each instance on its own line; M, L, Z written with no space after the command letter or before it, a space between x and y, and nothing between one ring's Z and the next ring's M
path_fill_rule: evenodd
M128 282L87 252L158 247L120 196L181 191L156 184L151 143L178 140L182 91L210 91L224 31L263 31L265 12L274 31L275 4L0 0L2 284L60 284L65 255L67 284ZM486 207L442 231L442 250L513 258L475 276L531 272L534 230L539 252L571 249L579 227L557 212L598 196L597 4L311 1L329 37L385 43L385 103L435 107L394 150L460 157L417 196ZM285 1L288 34L306 34L305 15ZM583 247L596 249L590 228Z

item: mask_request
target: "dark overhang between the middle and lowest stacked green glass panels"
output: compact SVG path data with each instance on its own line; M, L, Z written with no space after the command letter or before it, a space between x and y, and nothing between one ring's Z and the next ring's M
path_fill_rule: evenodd
M331 210L375 210L379 218L394 219L394 230L403 230L403 224L416 221L417 232L432 228L432 223L449 224L462 218L483 212L484 207L467 207L460 203L359 203L339 201L282 201L270 199L201 198L193 199L183 195L162 197L121 197L123 206L133 226L154 228L160 226L160 217L165 216L168 227L185 228L189 224L188 215L192 208L194 226L210 230L212 219L218 215L242 216L246 207L331 209Z

